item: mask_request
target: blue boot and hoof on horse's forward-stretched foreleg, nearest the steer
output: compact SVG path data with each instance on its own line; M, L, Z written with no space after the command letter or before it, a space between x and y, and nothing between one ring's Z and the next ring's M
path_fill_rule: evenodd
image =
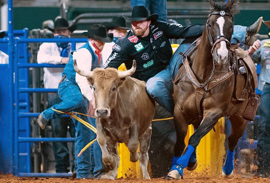
M173 165L171 167L171 170L168 173L169 177L173 179L183 179L184 174L183 169L187 167L188 161L193 151L194 151L193 146L188 145L183 155L176 160L176 165Z

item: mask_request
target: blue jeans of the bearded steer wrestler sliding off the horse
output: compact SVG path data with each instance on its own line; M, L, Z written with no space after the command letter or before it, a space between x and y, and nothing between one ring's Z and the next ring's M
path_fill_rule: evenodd
M246 28L243 26L235 25L232 34L232 44L244 43L246 36ZM156 100L162 107L168 110L172 115L174 113L174 101L173 101L173 83L171 81L172 73L174 70L174 66L178 68L178 65L182 62L182 57L179 55L180 52L185 52L188 46L194 40L186 39L181 45L177 48L177 50L172 55L169 65L157 73L154 77L150 78L146 82L146 90L149 95ZM193 46L190 47L193 48ZM177 74L178 69L175 70L175 75Z

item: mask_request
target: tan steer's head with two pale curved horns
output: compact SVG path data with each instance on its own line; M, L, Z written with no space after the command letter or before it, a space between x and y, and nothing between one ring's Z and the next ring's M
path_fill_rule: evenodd
M126 71L117 71L114 68L96 68L93 71L85 71L78 68L76 60L74 60L75 71L87 77L88 83L94 89L96 116L107 118L111 114L111 109L117 101L118 89L136 70L136 61L133 60L132 68Z

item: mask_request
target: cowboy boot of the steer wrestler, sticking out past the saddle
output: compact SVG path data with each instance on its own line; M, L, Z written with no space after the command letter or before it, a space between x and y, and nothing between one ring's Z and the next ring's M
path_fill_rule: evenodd
M247 32L246 32L246 39L245 39L245 45L252 46L256 38L254 37L255 34L257 34L261 28L262 25L262 16L257 19L253 25L250 25L247 27Z

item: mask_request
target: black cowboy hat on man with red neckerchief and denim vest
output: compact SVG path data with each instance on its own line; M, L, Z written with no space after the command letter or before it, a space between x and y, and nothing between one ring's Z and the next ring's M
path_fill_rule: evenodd
M111 43L114 39L114 34L108 34L106 27L100 24L94 24L87 32L83 32L82 34L104 43Z

